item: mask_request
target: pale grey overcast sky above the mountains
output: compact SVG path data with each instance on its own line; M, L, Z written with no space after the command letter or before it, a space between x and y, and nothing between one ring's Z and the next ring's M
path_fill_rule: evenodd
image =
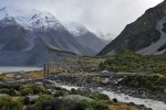
M89 29L118 35L126 24L164 0L0 0L0 7L49 11L60 21L75 21Z

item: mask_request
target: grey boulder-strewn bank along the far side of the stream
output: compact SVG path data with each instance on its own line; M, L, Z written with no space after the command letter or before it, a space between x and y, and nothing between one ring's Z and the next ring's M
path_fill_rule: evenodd
M129 88L121 84L126 75L118 74L86 74L86 75L56 75L52 79L63 85L93 88L95 90L112 90L117 94L125 94L136 98L154 99L166 102L166 92L152 91L145 88Z

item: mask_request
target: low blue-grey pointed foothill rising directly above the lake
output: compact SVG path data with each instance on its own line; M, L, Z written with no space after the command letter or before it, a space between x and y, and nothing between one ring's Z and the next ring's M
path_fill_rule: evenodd
M0 51L0 66L42 66L45 63L63 57L77 57L76 54L50 48L41 37L29 51Z

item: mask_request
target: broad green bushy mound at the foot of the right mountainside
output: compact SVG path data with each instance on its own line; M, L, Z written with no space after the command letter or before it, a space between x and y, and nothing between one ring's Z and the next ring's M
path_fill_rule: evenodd
M100 69L114 73L166 74L165 56L142 56L124 50L100 64Z

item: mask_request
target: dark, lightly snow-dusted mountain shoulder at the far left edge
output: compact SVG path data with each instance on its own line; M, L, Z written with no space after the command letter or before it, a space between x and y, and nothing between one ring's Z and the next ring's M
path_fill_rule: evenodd
M22 51L30 43L25 30L13 18L0 20L0 51Z

